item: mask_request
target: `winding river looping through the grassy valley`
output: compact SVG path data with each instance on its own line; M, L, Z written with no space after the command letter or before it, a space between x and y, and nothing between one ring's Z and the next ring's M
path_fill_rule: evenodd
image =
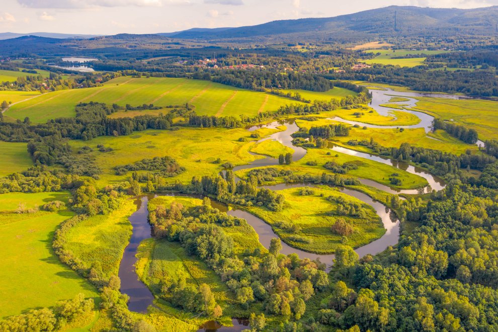
M416 93L399 93L399 92L394 92L391 90L387 91L378 91L378 90L372 90L371 91L373 94L373 99L371 106L376 109L376 111L379 114L382 115L387 115L387 112L389 109L385 107L381 107L381 104L386 104L389 102L390 98L392 96L390 95L395 95L395 96L402 96L405 98L409 98L410 102L400 102L402 104L408 104L408 107L413 107L414 102L416 100L413 97L418 97L418 96L423 96L423 97L439 97L439 98L464 98L460 96L451 96L451 95L436 95L436 94L416 94ZM420 128L424 127L426 128L426 131L430 130L430 125L432 124L433 117L422 113L422 112L416 112L416 111L408 111L416 116L418 116L421 119L421 122L418 125L414 126L406 126L405 128ZM356 122L354 121L347 121L339 118L335 118L334 120L336 121L341 121L341 122L346 122L346 123L352 123L355 124ZM268 125L262 125L262 126L254 126L249 128L249 131L254 131L258 128L266 127L266 128L277 128L280 125L283 125L283 122L273 122ZM358 122L358 124L361 125L366 125L363 123ZM265 137L261 139L259 142L264 141L264 140L277 140L281 142L283 145L290 147L294 150L293 153L293 160L297 161L304 157L306 155L306 149L298 146L292 145L292 136L291 134L299 130L298 126L295 124L295 122L292 120L288 123L285 123L286 129L284 131L277 132L275 134L272 134L268 137ZM367 125L371 126L371 125ZM389 126L380 126L381 128L389 128ZM429 183L429 186L427 188L424 188L423 191L430 191L430 190L436 190L439 191L444 188L444 182L431 175L427 171L420 169L418 167L413 167L412 165L405 163L405 162L400 162L397 160L390 159L388 157L384 156L378 156L378 155L373 155L370 153L365 153L365 152L359 152L355 151L352 149L348 149L345 147L341 146L331 146L331 150L338 151L341 153L347 153L350 155L355 155L361 158L366 158L370 160L375 160L378 162L382 162L385 164L392 165L395 168L398 168L400 170L419 175L426 179ZM256 159L250 164L246 165L240 165L237 166L233 169L234 172L239 171L239 170L245 170L245 169L252 169L252 168L258 168L262 166L269 166L269 165L277 165L278 160L275 158L271 157L266 157L263 159ZM238 179L237 179L238 180ZM359 179L362 184L378 188L382 191L392 193L392 194L417 194L420 192L420 190L398 190L398 189L393 189L388 186L376 183L372 180L369 179ZM265 186L265 188L269 188L272 190L283 190L286 188L295 188L295 187L304 187L304 186L313 186L313 184L306 184L306 183L298 183L298 184L279 184L279 185L273 185L273 186ZM347 188L339 188L343 193L346 193L350 196L354 196L364 203L372 206L376 213L379 215L379 217L382 220L382 223L386 229L385 234L380 237L379 239L370 242L364 246L361 246L357 248L355 251L358 253L360 257L363 257L365 255L371 254L375 255L378 254L382 251L384 251L388 246L395 245L398 242L399 238L399 220L396 219L394 214L391 214L391 211L384 206L383 204L376 202L373 200L371 197L368 195L352 190L352 189L347 189ZM175 195L174 193L168 193L168 194L163 194L163 195ZM179 196L191 196L191 197L197 197L197 198L202 198L201 195L186 195L186 194L178 194ZM125 249L125 253L123 256L123 259L121 261L120 269L119 269L119 277L121 278L121 291L125 294L128 294L130 296L130 302L129 302L129 309L132 311L137 311L137 312L146 312L147 307L149 305L153 305L153 299L154 296L151 294L150 290L141 282L138 280L138 277L135 273L135 268L134 265L137 261L136 259L136 253L137 253L137 247L138 244L146 239L151 237L151 229L150 229L150 224L148 223L148 212L147 212L147 203L148 200L151 197L155 197L155 195L152 196L141 196L138 197L135 201L137 205L137 211L134 212L129 220L131 221L133 225L133 235L131 237L130 243ZM260 242L262 245L264 245L266 248L270 246L270 241L272 238L277 237L278 235L275 234L275 232L272 230L272 227L267 224L264 220L254 216L253 214L240 210L240 209L228 209L228 207L220 202L217 202L215 200L212 200L212 204L214 207L218 208L220 211L226 211L229 215L236 216L239 218L243 218L247 220L247 222L253 226L255 231L258 233ZM309 258L311 260L314 259L320 259L322 263L327 264L327 270L330 268L334 255L320 255L320 254L313 254L309 252L305 252L302 250L299 250L297 248L291 247L290 245L286 244L285 242L282 242L282 254L289 255L292 253L297 254L300 258ZM243 329L244 324L239 323L238 321L236 322L237 328L235 329L229 329L229 330L239 330ZM211 326L206 325L205 327L202 328L202 330L209 329ZM215 328L218 328L215 326ZM227 329L228 330L228 329Z

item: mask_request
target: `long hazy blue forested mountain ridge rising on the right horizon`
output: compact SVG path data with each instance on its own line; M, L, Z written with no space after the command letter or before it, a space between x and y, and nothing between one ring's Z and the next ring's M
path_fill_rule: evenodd
M396 18L396 19L395 19ZM498 6L478 9L437 9L390 6L332 18L273 21L256 26L228 29L191 29L162 34L182 39L224 39L313 34L334 39L358 36L455 36L493 35Z

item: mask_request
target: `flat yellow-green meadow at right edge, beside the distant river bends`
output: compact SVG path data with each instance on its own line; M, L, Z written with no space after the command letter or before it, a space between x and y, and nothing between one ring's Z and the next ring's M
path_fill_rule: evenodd
M479 139L498 139L498 102L482 99L418 97L417 109L447 121L473 128Z

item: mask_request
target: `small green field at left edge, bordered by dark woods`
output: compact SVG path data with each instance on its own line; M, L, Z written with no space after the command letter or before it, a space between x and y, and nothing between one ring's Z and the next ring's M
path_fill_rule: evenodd
M0 176L24 171L33 165L26 143L0 141Z

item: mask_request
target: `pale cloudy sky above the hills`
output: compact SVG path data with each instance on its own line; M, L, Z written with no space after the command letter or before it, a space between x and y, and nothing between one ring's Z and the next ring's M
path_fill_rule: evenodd
M0 32L111 35L333 17L391 5L479 8L498 0L0 0Z

